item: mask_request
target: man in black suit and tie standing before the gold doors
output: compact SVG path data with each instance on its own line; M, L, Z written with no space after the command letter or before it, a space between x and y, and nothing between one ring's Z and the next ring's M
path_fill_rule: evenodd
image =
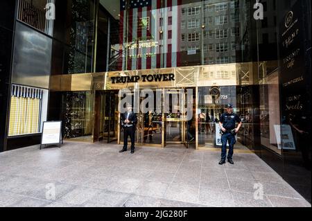
M123 127L123 149L119 152L125 152L128 148L128 136L131 139L131 154L135 153L135 126L137 125L137 114L132 112L132 105L128 104L126 112L121 114L121 126Z

